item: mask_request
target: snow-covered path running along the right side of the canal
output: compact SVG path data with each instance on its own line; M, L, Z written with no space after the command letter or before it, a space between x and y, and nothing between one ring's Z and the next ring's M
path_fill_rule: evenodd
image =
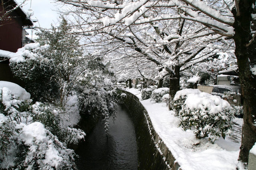
M166 103L141 100L141 92L127 89L136 95L148 111L154 129L172 152L182 170L236 170L241 145L243 119L234 119L234 134L219 138L212 144L208 138L196 139L192 130L178 127L179 118L169 111Z

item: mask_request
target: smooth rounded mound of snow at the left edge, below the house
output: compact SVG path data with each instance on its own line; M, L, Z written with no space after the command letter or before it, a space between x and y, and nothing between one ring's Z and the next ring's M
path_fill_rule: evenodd
M20 100L28 100L30 99L30 93L28 93L25 89L20 87L19 85L8 82L8 81L0 81L0 88L7 87L12 91L17 99Z

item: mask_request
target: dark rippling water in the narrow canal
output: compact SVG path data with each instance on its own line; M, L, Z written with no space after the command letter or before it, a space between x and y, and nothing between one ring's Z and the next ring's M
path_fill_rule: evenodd
M118 106L110 120L108 136L99 123L76 150L78 170L137 170L138 155L134 125L125 107Z

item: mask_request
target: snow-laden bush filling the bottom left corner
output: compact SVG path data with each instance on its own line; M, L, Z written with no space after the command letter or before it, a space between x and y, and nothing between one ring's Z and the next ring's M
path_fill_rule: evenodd
M42 123L12 121L0 113L0 169L70 170L74 150L67 149Z

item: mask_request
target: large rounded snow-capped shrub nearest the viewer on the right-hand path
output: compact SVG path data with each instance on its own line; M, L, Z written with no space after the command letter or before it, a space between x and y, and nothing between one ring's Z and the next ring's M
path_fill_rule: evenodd
M233 108L220 97L204 92L188 94L181 108L177 114L179 126L184 130L193 129L196 138L209 137L214 142L231 133Z

